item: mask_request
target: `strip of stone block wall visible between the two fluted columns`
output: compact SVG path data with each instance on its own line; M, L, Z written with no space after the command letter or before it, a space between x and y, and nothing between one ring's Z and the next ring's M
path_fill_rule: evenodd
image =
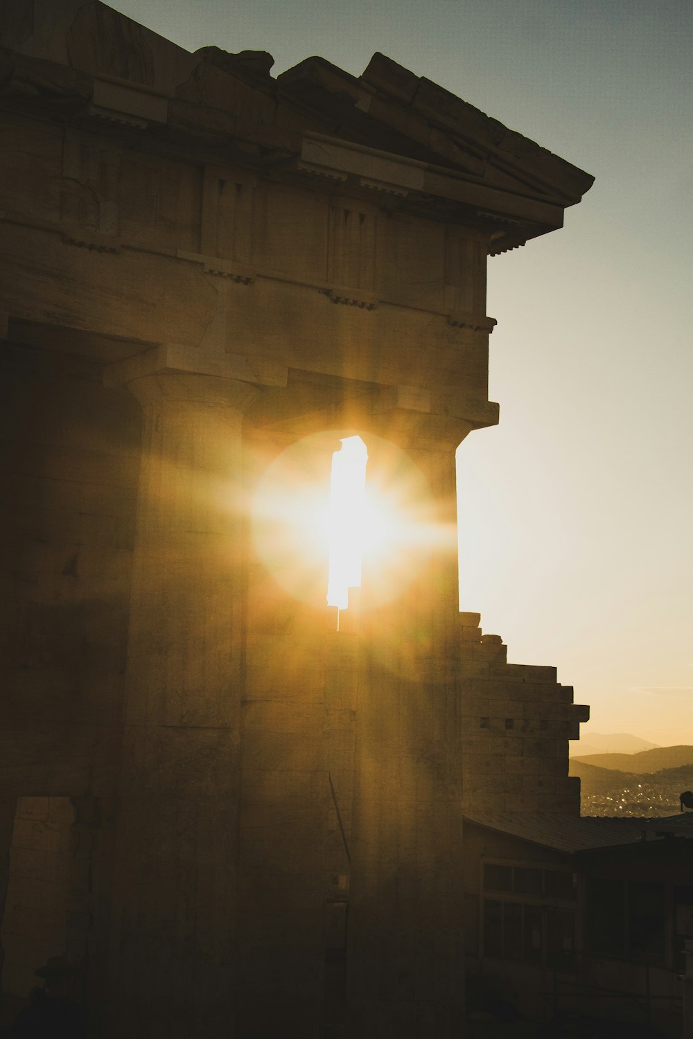
M254 558L248 582L242 705L242 1039L318 1039L324 1018L325 907L332 895L328 751L336 724L328 671L337 618L326 605L326 545L316 544L311 515L302 513L318 488L326 503L339 446L331 436L308 437L276 460L271 441L252 451L251 484L269 481L276 494L263 539L276 551L262 552L255 532L262 558ZM305 537L294 542L297 513Z

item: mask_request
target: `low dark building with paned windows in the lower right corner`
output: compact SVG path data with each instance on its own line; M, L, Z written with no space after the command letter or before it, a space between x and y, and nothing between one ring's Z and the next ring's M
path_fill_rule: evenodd
M692 837L693 814L465 816L470 1009L681 1036Z

